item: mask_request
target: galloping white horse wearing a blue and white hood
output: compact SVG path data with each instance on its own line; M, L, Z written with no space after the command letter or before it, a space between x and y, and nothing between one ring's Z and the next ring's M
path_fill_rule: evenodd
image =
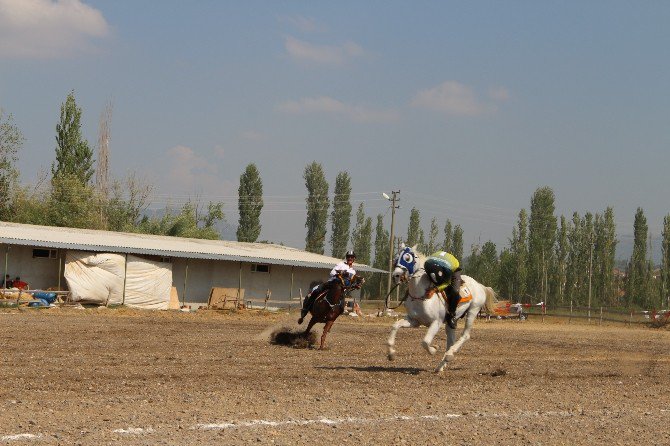
M393 324L391 329L388 338L388 358L390 361L395 358L395 337L399 328L425 325L428 327L428 331L423 337L423 348L431 355L437 352L437 348L432 345L432 342L445 321L447 302L446 296L434 292L434 286L423 269L423 262L423 255L415 253L414 248L409 247L404 248L396 260L393 280L396 284L404 282L408 284L407 295L403 301L407 309L407 316ZM461 318L465 315L465 329L456 340L456 330L447 325L447 351L435 369L436 372L443 371L447 362L452 361L454 354L470 339L472 324L479 310L485 306L489 314L493 313L494 301L496 300L495 291L477 282L472 277L462 275L461 278L463 279L461 301L456 309L456 317Z

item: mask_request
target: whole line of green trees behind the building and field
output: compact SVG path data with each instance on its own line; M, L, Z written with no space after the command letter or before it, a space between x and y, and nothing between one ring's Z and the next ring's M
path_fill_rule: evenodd
M60 108L56 125L55 161L50 176L36 186L22 186L16 168L24 138L11 115L0 109L0 220L19 223L140 232L180 237L218 239L216 223L224 219L223 203L207 205L189 200L181 208L169 205L149 215L152 187L134 174L111 180L108 176L108 143L111 106L100 119L98 160L81 133L82 111L71 91ZM95 179L94 179L95 174ZM323 166L313 161L303 172L307 189L305 249L342 258L356 251L357 262L387 270L390 235L384 216L366 215L364 204L351 204L351 177L339 172L331 198ZM427 234L420 211L412 208L406 236L398 237L419 251L444 250L463 263L465 273L494 287L511 300L543 301L548 305L668 306L670 293L670 214L663 222L662 260L654 268L647 249L649 236L644 212L634 221L633 252L624 268L616 268L616 225L611 207L595 214L575 212L557 217L554 193L549 187L535 191L530 212L521 209L508 246L491 242L473 244L464 252L463 228L446 219L440 230L437 218ZM332 205L332 210L331 210ZM261 233L263 183L250 163L240 175L237 240L256 242ZM329 213L330 211L330 213ZM353 221L352 221L353 217ZM326 240L330 220L330 238ZM353 224L353 227L352 227ZM394 240L396 244L397 240ZM380 297L386 276L368 275L363 294Z

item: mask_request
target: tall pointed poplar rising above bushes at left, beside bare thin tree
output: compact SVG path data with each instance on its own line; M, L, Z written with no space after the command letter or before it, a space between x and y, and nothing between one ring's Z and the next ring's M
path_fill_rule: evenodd
M53 177L71 175L88 185L93 176L93 150L81 134L81 108L75 102L74 90L61 104L56 144L56 161L51 165Z

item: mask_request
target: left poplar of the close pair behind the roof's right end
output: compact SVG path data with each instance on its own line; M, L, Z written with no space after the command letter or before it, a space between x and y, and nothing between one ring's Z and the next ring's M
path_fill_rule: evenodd
M326 240L326 223L328 220L328 182L321 164L313 161L305 167L303 175L307 187L307 236L305 250L323 254Z

